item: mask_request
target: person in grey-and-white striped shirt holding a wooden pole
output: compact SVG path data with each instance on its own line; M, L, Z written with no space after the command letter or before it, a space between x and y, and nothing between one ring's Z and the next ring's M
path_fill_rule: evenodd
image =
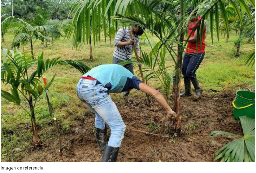
M113 53L112 64L119 64L127 60L132 60L133 44L135 44L138 56L140 56L139 36L143 34L145 28L142 29L140 26L134 25L132 28L132 33L134 36L133 39L130 38L129 30L129 27L123 27L117 31L114 42L116 47ZM133 64L126 64L124 67L133 73ZM130 91L125 91L123 98L129 99L129 93Z

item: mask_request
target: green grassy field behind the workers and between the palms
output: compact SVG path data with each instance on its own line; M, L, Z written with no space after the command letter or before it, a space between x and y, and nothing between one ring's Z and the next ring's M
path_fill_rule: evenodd
M236 39L234 33L231 33L228 43L225 43L225 38L220 36L217 41L215 37L214 43L210 40L210 35L206 38L206 53L203 62L201 63L197 75L201 86L205 92L210 92L209 89L238 90L241 83L249 82L252 88L255 87L255 67L248 68L244 66L241 59L246 56L247 44L243 44L241 51L242 56L237 58L234 56L235 47L232 41ZM13 35L5 36L5 42L1 42L3 48L10 49ZM157 38L152 37L156 42ZM89 45L86 45L82 50L72 50L70 40L61 38L56 40L54 45L44 47L39 40L34 44L34 52L38 56L44 51L44 58L62 57L62 59L77 59L83 60L92 68L100 64L110 64L114 45L107 44L104 41L101 44L92 47L94 62L89 62ZM30 51L29 46L24 46L25 51ZM149 52L149 45L142 45L142 50ZM20 47L23 51L23 47ZM172 65L172 59L167 55L167 65ZM135 75L138 69L135 67ZM63 101L52 98L52 105L56 117L61 122L61 133L67 133L72 126L73 120L81 118L89 110L85 105L78 100L75 88L81 74L70 66L57 66L57 68L49 70L45 77L50 81L51 77L56 73L56 81L51 86L51 91L58 91L68 95L75 100L75 103L70 103L70 106ZM151 79L149 85L155 88L160 88L161 85L157 79ZM1 89L7 90L8 85L1 83ZM182 84L182 91L184 90ZM142 92L133 90L131 95L142 95ZM111 94L113 101L120 99L122 94ZM54 122L49 115L47 102L45 98L41 98L35 108L36 122L39 125L39 135L41 140L47 141L56 136L50 133L49 126ZM32 133L30 130L30 116L25 111L19 109L14 104L1 105L1 161L5 158L8 161L15 161L17 158L24 156L23 150L30 147Z

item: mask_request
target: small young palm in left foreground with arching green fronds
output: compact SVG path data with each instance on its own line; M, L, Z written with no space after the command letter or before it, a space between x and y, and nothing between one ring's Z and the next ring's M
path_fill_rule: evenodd
M30 115L33 131L33 145L40 145L40 137L38 135L36 118L34 109L38 99L42 95L51 94L66 102L72 101L68 96L58 92L46 92L55 79L55 75L51 81L43 87L40 78L42 75L58 64L69 64L79 70L82 74L90 69L81 61L77 60L60 60L60 58L46 59L44 61L44 52L38 56L37 60L32 59L32 56L27 56L25 53L1 49L1 81L10 86L10 91L1 90L1 103L15 103L23 108ZM36 69L36 70L33 70ZM30 71L30 72L28 72ZM31 73L32 71L32 73ZM49 94L50 93L50 94ZM23 97L23 98L22 98ZM24 103L25 101L25 103Z

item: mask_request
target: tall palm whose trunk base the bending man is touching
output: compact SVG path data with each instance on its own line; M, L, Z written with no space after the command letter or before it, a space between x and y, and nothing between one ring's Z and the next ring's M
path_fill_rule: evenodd
M93 18L108 19L106 25L115 26L117 30L117 23L123 23L123 25L142 25L151 31L156 37L159 38L161 47L165 47L174 61L176 67L176 78L174 83L174 110L178 115L177 120L173 122L175 129L180 127L181 114L180 114L180 81L181 81L181 63L183 52L187 43L183 43L183 38L186 33L186 26L189 23L193 13L200 14L202 20L199 21L197 27L204 23L205 19L210 17L210 33L213 39L213 25L215 20L215 30L217 37L219 38L219 23L223 20L224 26L229 37L229 23L225 7L231 5L235 8L235 13L238 20L242 23L242 16L239 13L238 5L242 6L249 19L251 20L251 13L248 9L250 3L255 8L255 2L253 0L52 0L57 3L68 4L72 6L73 20L72 26L75 30L70 30L75 44L79 45L85 42L89 36L89 9L93 15ZM190 6L194 7L193 12L190 15L186 14L186 9ZM180 8L180 16L177 14L178 8ZM97 15L101 14L101 15ZM115 15L115 17L113 17ZM114 20L116 19L116 20ZM95 20L96 22L99 21ZM103 20L105 21L105 20ZM100 24L100 23L98 23ZM105 25L103 25L105 27ZM242 25L243 27L243 25ZM100 30L98 25L92 26L95 30L95 38L100 39ZM107 27L106 27L107 28ZM108 32L109 35L113 34L113 30L107 30L103 28L104 33ZM196 28L194 28L196 29ZM203 37L203 32L199 34L198 38ZM190 36L188 36L190 37ZM202 39L200 39L202 40ZM178 53L177 48L178 47ZM177 60L176 60L177 57ZM145 57L143 57L145 58ZM159 57L155 57L159 58Z

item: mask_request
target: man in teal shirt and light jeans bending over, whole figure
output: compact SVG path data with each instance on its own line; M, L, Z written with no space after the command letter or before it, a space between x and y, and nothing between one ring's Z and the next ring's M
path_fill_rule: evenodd
M116 162L126 125L108 93L120 93L131 89L152 95L165 109L168 118L176 117L165 98L156 89L149 87L121 65L96 66L85 73L76 88L78 98L95 113L95 132L98 150L103 151L102 162ZM111 135L107 143L108 124Z

